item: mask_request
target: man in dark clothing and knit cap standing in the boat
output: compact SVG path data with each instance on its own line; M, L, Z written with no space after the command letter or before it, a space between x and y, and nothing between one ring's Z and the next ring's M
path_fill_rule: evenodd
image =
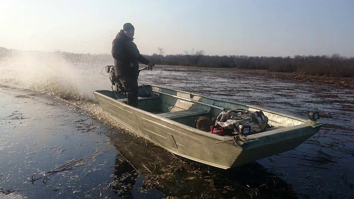
M139 64L143 63L152 68L148 59L143 57L134 40L135 28L131 23L125 23L123 29L112 42L112 56L114 58L114 72L116 78L127 91L128 105L138 106L138 76Z

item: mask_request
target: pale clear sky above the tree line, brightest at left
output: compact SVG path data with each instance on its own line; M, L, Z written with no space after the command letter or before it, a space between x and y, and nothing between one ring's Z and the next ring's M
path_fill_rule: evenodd
M124 23L142 54L354 56L353 0L0 0L0 47L110 53Z

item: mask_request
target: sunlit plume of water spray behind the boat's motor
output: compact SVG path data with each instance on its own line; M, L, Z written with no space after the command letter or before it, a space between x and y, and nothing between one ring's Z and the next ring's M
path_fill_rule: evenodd
M18 51L3 59L0 66L3 71L0 84L47 93L62 99L95 101L92 90L97 89L100 83L101 87L107 86L103 81L87 78L85 68L65 60L61 53Z

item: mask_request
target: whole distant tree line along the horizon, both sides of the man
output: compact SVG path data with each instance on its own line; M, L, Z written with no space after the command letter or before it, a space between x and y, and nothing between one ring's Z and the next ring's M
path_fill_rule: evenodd
M11 50L0 47L0 60L5 57L15 56L19 50ZM82 54L70 52L44 52L28 51L36 56L59 56L70 62L103 62L112 63L110 54ZM170 66L195 66L214 68L241 68L241 69L261 69L274 72L293 72L306 75L326 75L336 77L354 77L354 57L343 57L338 54L322 56L300 56L293 57L258 57L258 56L218 56L204 55L204 51L189 50L183 54L164 55L162 48L153 55L144 55L155 64Z

